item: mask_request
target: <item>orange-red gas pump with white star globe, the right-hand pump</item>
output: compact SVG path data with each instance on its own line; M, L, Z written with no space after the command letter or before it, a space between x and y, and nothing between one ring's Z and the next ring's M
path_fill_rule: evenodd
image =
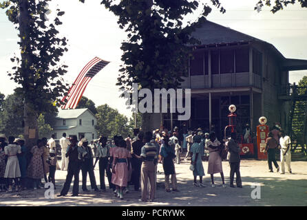
M258 159L267 159L268 155L265 154L266 138L268 137L269 129L266 125L266 117L259 118L260 124L257 126L257 151Z

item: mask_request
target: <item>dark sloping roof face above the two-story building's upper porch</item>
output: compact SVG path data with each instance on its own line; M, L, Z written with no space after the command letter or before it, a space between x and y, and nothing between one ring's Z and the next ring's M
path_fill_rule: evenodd
M248 41L260 41L253 36L243 34L231 28L226 28L212 21L205 21L200 28L196 28L192 36L202 42L202 45L211 45L218 43L237 43Z

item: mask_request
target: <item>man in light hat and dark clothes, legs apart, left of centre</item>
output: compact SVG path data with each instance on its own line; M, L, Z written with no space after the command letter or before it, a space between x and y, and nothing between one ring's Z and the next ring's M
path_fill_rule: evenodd
M88 192L86 187L86 181L87 181L87 173L89 173L89 181L91 181L92 189L95 191L99 191L98 187L96 185L96 178L94 174L94 165L93 165L93 153L92 149L88 146L89 142L86 137L83 137L81 139L81 147L80 151L82 153L82 164L81 164L81 170L82 170L82 190L83 192Z

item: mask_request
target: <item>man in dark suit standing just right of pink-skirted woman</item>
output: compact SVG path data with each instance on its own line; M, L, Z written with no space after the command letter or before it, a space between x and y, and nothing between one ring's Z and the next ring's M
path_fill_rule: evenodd
M240 147L235 142L237 138L236 133L231 133L231 138L228 142L228 150L229 150L229 164L231 167L230 172L230 187L233 186L233 179L235 178L237 187L242 188L242 180L240 175Z

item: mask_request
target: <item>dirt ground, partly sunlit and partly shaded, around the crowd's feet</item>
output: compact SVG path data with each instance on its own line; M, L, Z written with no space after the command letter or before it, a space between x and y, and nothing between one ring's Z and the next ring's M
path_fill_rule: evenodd
M280 162L279 162L280 164ZM208 162L203 162L207 173ZM162 164L158 164L158 186L156 201L152 203L139 202L140 192L135 192L130 186L130 192L125 199L114 197L112 190L107 192L82 192L80 181L79 197L54 197L45 199L45 189L24 190L21 192L0 192L0 206L307 206L307 162L292 162L293 174L281 175L268 173L266 161L243 159L241 162L241 175L243 188L229 187L229 163L223 162L226 188L222 188L220 174L215 174L215 188L211 187L210 175L204 176L205 188L192 185L193 175L189 170L189 162L176 164L178 189L180 192L165 192ZM64 184L67 171L56 170L55 190L59 195ZM80 173L80 179L82 179ZM95 169L97 184L99 184L98 165ZM107 178L105 178L107 182ZM251 186L260 185L261 198L252 199ZM98 186L99 187L99 186ZM90 189L89 177L87 188Z

